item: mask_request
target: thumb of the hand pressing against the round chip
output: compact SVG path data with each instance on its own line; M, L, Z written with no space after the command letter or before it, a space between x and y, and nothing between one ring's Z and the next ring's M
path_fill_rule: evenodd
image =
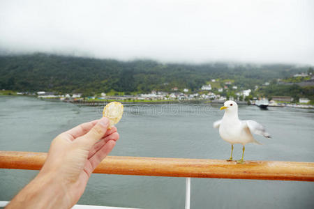
M84 146L87 146L87 148L90 149L97 141L103 138L103 136L107 132L109 125L109 119L103 117L98 121L98 123L96 123L94 127L91 128L91 130L89 130L89 132L87 132L87 134L80 137L80 139L76 141L82 142Z

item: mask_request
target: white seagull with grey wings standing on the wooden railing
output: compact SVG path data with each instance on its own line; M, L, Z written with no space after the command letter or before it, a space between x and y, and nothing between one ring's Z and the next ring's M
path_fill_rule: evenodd
M233 160L232 152L234 144L242 144L242 158L237 160L243 163L245 145L248 143L260 144L252 134L258 134L266 138L271 138L265 128L256 121L240 121L238 117L238 104L232 100L226 101L220 110L225 109L223 119L214 122L214 128L219 129L220 137L231 144L231 156L228 161Z

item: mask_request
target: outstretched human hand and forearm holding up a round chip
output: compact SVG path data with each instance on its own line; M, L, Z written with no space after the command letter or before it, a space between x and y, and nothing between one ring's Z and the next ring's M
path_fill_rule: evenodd
M82 196L89 177L119 139L109 120L83 123L59 134L43 168L7 208L71 208Z

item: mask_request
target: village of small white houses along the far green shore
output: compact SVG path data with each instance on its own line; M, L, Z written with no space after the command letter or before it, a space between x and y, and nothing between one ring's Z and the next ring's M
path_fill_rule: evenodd
M306 73L294 75L294 78L309 77ZM314 78L307 82L313 82ZM219 82L219 85L218 85ZM278 79L281 82L281 79ZM223 87L221 87L223 84ZM262 86L268 86L269 82L265 82ZM167 102L211 102L223 103L226 100L234 100L238 104L255 104L260 107L297 107L297 108L314 108L309 104L311 100L308 98L299 98L298 101L290 96L276 95L268 98L254 97L255 89L243 89L233 84L232 80L224 80L223 83L219 79L211 79L210 82L203 85L197 91L191 92L188 88L179 89L174 86L170 92L151 91L151 93L139 93L136 95L124 95L121 93L100 93L98 95L83 95L82 93L66 93L56 94L54 92L37 91L35 92L17 92L16 95L33 95L42 99L56 99L63 102L73 102L87 105L97 105L103 102L120 101L120 102L147 102L147 103L167 103ZM3 89L4 91L4 89Z

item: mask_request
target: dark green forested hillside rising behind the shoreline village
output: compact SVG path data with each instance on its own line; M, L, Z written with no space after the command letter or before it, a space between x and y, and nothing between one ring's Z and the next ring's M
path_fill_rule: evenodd
M0 56L0 88L15 91L145 93L189 88L196 91L210 79L232 79L254 88L307 68L294 65L230 63L182 64L156 61L116 61L50 54Z

